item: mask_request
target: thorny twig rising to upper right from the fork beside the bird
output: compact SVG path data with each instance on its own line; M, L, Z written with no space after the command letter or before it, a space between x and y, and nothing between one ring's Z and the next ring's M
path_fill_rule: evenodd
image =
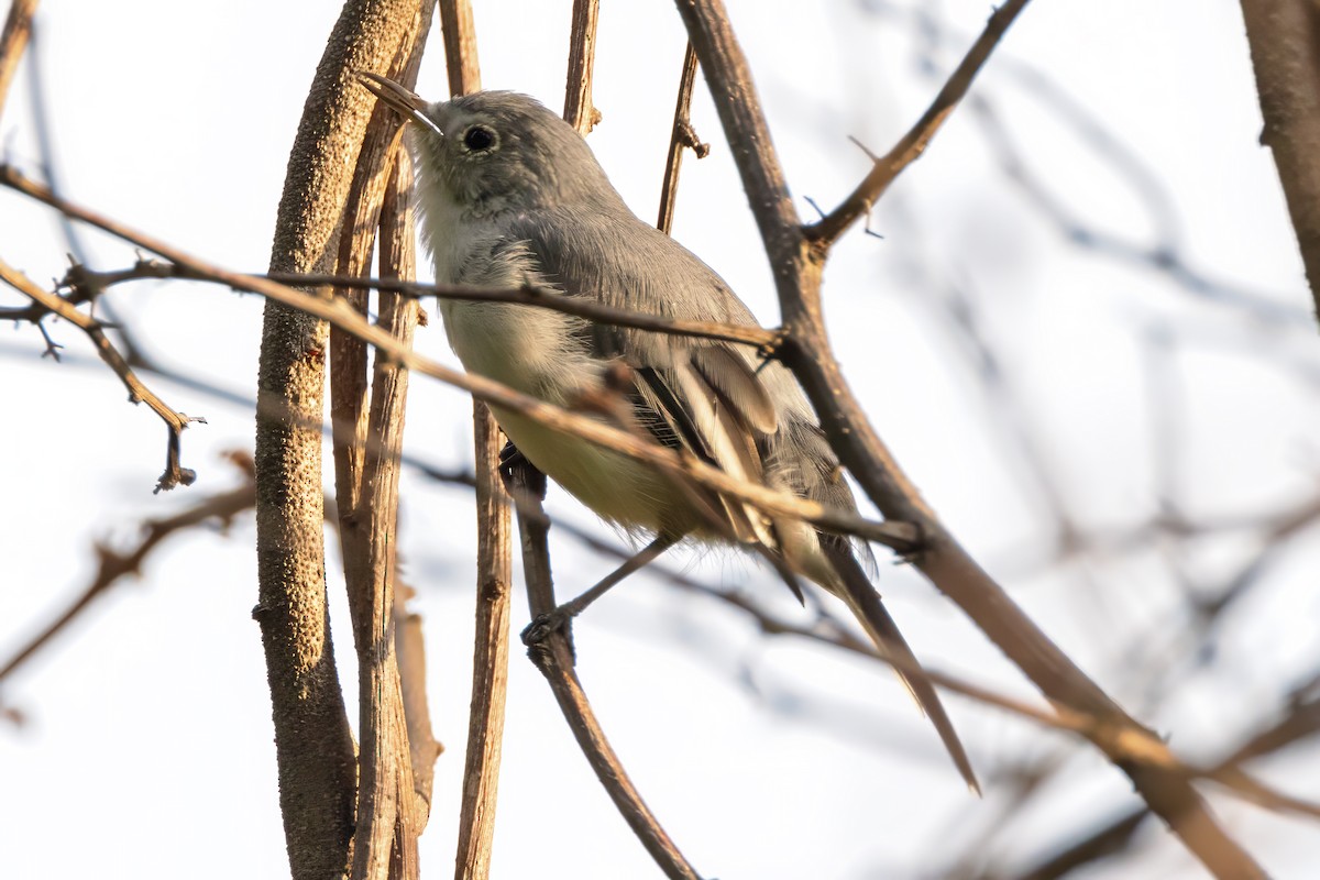
M990 58L990 53L994 51L1005 32L1008 30L1026 5L1027 0L1008 0L994 11L985 30L981 32L981 37L972 44L962 63L945 80L940 94L931 102L921 119L899 139L899 142L888 153L875 161L870 174L857 185L857 189L842 204L807 227L805 235L809 241L821 251L828 251L847 227L858 218L871 212L875 202L890 187L890 183L898 179L899 174L925 152L931 139L940 131L944 120L949 117L962 96L968 94L972 82L977 78L986 59Z

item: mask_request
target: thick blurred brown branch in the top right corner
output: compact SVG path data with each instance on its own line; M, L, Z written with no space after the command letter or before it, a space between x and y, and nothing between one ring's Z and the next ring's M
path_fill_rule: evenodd
M1320 7L1242 0L1265 131L1320 314Z

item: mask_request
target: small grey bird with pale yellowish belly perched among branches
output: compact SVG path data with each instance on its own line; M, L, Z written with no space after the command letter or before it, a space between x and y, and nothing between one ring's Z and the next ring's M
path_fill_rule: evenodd
M416 123L416 195L437 282L535 285L668 318L755 323L705 263L628 210L586 141L536 100L491 91L429 104L389 79L362 77ZM622 393L634 424L656 442L734 476L855 509L838 458L792 373L777 361L760 363L746 346L598 325L525 305L441 299L440 310L470 372L572 408L605 392L607 383L618 384L622 363L630 368ZM649 464L525 416L492 412L523 456L595 513L655 536L638 561L684 538L760 544L789 570L840 596L876 648L911 670L904 681L975 788L935 689L847 540L768 517L738 499L697 492ZM642 562L626 563L602 583L622 579Z

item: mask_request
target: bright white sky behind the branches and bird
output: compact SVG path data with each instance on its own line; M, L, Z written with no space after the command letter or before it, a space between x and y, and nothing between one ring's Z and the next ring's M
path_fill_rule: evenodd
M477 3L483 83L562 104L569 3ZM771 129L799 197L834 204L865 173L855 135L882 150L921 112L937 80L907 15L863 15L863 3L730 1ZM879 3L871 5L882 5ZM989 7L927 7L957 61ZM665 3L606 3L590 142L630 204L653 218L682 30ZM164 0L41 7L40 50L66 191L125 223L224 265L264 269L284 166L308 84L338 15L302 4ZM418 90L445 92L442 44ZM1034 173L1085 222L1148 244L1142 199L1015 71L1035 71L1101 120L1176 206L1181 255L1199 272L1308 310L1296 245L1266 150L1233 4L1089 0L1028 7L978 80ZM676 235L715 267L762 319L774 292L741 185L709 98L694 123L713 156L689 156ZM966 111L966 108L964 108ZM9 161L37 174L28 71L0 119ZM812 208L799 203L804 216ZM969 112L957 113L878 212L878 240L853 232L826 278L840 358L882 435L932 504L1047 632L1184 755L1212 760L1234 734L1265 724L1279 694L1317 660L1320 563L1313 541L1283 557L1225 628L1218 660L1160 705L1135 672L1176 636L1183 588L1168 559L1216 582L1251 549L1245 540L1041 567L1055 524L1032 466L1084 526L1123 530L1172 486L1203 517L1253 516L1315 492L1320 358L1305 321L1258 325L1199 301L1148 269L1069 247L997 170ZM131 249L90 235L98 268ZM0 194L0 249L46 284L67 249L55 219ZM1023 401L1038 449L1027 460L940 321L960 285ZM261 303L218 289L139 285L115 307L166 364L248 394ZM16 303L8 293L0 302ZM42 360L32 327L0 342L5 377L0 505L0 657L75 595L95 542L133 540L136 524L232 482L219 454L251 446L249 413L170 383L148 381L178 409L205 414L185 437L198 484L150 489L165 431L125 405L117 380L67 325L67 348ZM1181 397L1151 396L1147 334L1175 338L1168 375ZM418 338L454 361L438 321ZM1280 361L1296 368L1279 368ZM1299 379L1309 377L1309 379ZM470 459L469 402L414 381L409 451L441 467ZM1172 426L1160 466L1152 437ZM327 468L329 470L329 468ZM422 839L428 876L451 871L466 730L471 643L473 520L469 496L413 472L403 482L401 546L424 615L437 736L436 798ZM593 517L553 492L550 512ZM275 786L269 697L257 627L251 521L227 536L194 534L154 553L145 578L119 586L4 689L29 718L0 728L4 876L275 877L286 873ZM569 538L554 545L561 591L610 563ZM337 559L331 558L330 569ZM746 583L787 612L771 575L713 554L686 563L710 582ZM1309 575L1309 577L1308 577ZM1032 690L952 606L903 569L882 563L882 590L932 665L1018 695ZM346 608L331 582L338 656L351 682ZM515 629L525 620L521 598ZM891 674L788 641L742 617L638 578L576 627L579 668L605 730L648 803L705 876L916 877L935 873L1007 797L997 768L1068 740L949 698L987 797L972 801L939 741ZM748 682L754 687L748 686ZM356 718L354 687L347 689ZM1051 797L1016 819L1011 852L1038 852L1134 803L1129 782L1069 745ZM1315 745L1259 768L1290 792L1320 785ZM1225 823L1278 877L1312 876L1320 833L1230 798ZM1139 863L1089 877L1200 876L1175 842ZM540 677L515 646L496 831L496 877L616 879L655 868L577 752ZM1134 873L1135 872L1135 873Z

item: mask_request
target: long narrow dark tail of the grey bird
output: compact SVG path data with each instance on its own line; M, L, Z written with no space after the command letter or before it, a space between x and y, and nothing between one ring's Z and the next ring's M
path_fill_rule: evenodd
M948 749L949 757L953 759L954 767L958 768L958 773L962 774L968 788L979 797L981 785L977 782L977 774L972 769L972 761L968 760L962 741L958 739L957 731L953 730L953 722L949 720L949 715L944 711L944 703L940 702L940 695L936 693L935 686L921 670L921 664L917 661L916 654L908 648L903 633L899 632L898 624L894 623L894 617L890 616L890 612L884 608L884 603L880 602L880 594L871 586L870 578L866 577L866 571L845 540L826 534L821 534L820 537L821 549L840 577L840 583L834 584L838 587L840 598L847 603L849 610L851 610L858 623L862 624L862 628L866 629L871 641L875 643L876 649L895 662L895 672L903 679L903 683L907 685L917 706L921 707L925 716L935 724L935 730L944 741L944 748Z

